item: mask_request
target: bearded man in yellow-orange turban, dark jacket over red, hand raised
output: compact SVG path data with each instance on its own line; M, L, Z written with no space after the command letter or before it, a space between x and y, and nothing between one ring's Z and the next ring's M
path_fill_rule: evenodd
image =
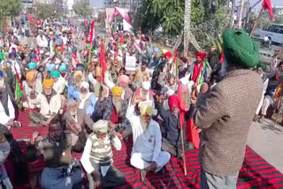
M115 126L115 131L119 139L126 138L132 133L132 128L126 118L127 102L121 98L122 87L112 87L111 97L106 97L102 92L101 97L96 102L96 111L92 115L94 122L99 119L110 120Z

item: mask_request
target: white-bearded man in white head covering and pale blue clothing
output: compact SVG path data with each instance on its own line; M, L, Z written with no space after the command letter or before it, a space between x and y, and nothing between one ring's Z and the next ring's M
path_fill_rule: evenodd
M91 116L96 107L96 95L89 92L89 84L86 81L80 83L79 109L85 110Z

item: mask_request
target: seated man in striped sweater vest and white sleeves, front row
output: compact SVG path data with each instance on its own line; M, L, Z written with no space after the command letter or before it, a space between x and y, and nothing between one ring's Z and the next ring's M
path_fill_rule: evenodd
M101 119L93 125L93 133L88 136L80 159L88 173L89 189L100 188L101 185L103 188L113 188L125 183L124 175L113 165L111 145L116 150L122 147L114 132L114 125Z

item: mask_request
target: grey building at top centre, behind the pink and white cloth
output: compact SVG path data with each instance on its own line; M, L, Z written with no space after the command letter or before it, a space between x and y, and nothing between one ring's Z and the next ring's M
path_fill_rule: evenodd
M124 8L129 11L137 11L142 5L142 0L103 0L104 8Z

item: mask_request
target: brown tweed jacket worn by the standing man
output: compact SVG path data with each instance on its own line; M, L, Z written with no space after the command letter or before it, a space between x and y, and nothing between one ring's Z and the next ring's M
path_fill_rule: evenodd
M195 112L195 125L203 129L199 160L203 170L218 177L241 169L249 126L263 93L256 72L228 72Z

